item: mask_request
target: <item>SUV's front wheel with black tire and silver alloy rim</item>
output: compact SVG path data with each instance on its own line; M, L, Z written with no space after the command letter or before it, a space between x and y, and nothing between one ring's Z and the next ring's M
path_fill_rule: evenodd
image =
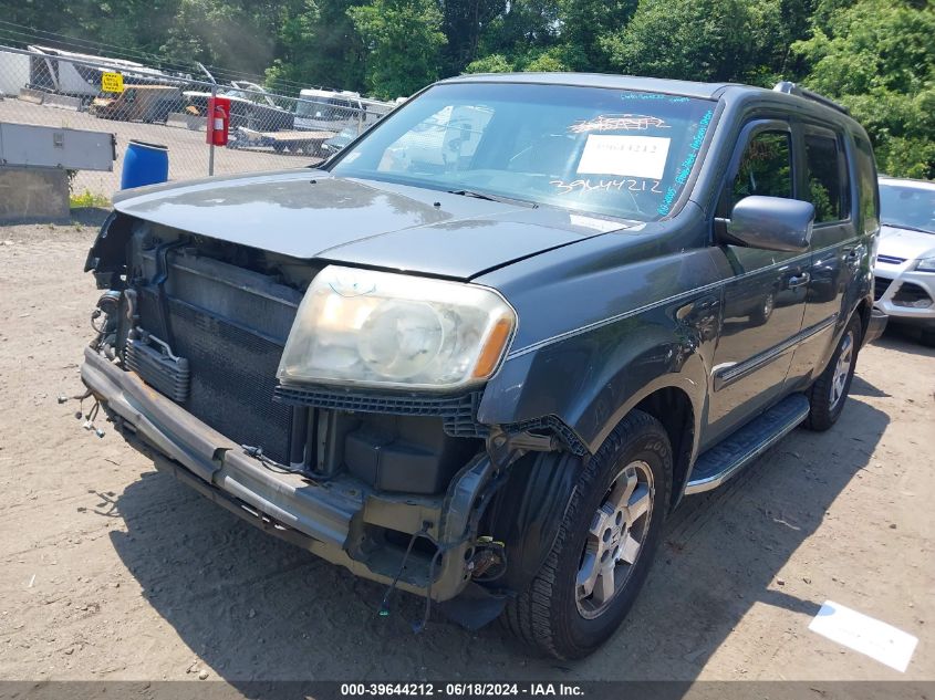
M668 436L658 420L634 410L584 467L552 550L530 586L508 604L505 626L557 659L584 657L606 641L626 617L650 572L671 490ZM641 514L614 508L614 502L635 505ZM611 536L606 536L609 531L613 531ZM634 543L638 544L635 550ZM617 553L615 564L599 566ZM596 571L612 575L585 576ZM613 586L604 585L611 581Z

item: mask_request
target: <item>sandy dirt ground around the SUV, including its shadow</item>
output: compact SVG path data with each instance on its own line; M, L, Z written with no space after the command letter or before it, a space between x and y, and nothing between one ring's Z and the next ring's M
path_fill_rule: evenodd
M496 627L414 636L414 599L377 617L381 587L83 430L55 397L80 390L94 233L0 229L0 678L935 679L935 352L911 337L861 354L832 431L689 499L625 627L557 665ZM809 631L825 599L917 636L908 670Z

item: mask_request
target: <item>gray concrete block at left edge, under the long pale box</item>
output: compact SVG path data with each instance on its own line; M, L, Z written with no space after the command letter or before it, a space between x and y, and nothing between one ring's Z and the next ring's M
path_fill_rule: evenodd
M0 165L0 224L70 219L65 170Z

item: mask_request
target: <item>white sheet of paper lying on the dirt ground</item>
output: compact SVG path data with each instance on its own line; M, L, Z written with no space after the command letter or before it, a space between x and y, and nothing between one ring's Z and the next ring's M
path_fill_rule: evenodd
M825 600L809 629L905 672L918 639L892 625Z

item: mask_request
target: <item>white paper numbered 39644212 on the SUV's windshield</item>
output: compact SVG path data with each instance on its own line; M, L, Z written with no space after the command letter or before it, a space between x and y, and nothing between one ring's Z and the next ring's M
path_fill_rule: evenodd
M662 179L671 138L589 134L579 173Z

